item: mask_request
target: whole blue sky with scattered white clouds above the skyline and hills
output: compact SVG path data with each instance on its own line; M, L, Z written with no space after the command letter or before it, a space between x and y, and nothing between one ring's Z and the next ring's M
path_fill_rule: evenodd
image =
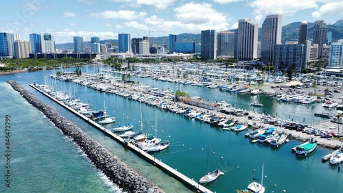
M282 14L283 25L296 21L343 19L342 0L16 0L1 1L0 31L21 34L49 32L56 43L73 36L117 39L118 34L167 36L237 28L242 18L263 23L269 14Z

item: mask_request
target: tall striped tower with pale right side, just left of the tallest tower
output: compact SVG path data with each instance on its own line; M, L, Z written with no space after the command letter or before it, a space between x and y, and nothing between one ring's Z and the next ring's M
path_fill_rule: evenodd
M250 19L238 21L237 60L254 60L257 58L258 25Z

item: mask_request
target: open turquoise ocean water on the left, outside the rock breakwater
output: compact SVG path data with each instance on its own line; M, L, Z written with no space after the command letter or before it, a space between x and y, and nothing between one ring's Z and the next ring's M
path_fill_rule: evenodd
M121 192L8 83L0 82L0 90L0 192ZM10 116L8 135L6 116ZM10 162L5 157L5 136L10 136ZM8 174L10 181L5 181Z

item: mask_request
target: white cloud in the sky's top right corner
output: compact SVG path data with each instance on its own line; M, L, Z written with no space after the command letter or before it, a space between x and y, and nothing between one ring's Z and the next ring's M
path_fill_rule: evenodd
M328 2L322 6L315 12L312 12L311 16L315 18L319 18L322 15L333 15L333 14L343 14L343 3L342 1L333 1Z

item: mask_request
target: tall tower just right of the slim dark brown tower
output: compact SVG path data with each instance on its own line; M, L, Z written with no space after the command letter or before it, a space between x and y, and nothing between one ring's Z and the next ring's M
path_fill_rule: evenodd
M314 44L318 44L318 57L322 57L323 44L327 43L327 24L324 21L314 23Z

